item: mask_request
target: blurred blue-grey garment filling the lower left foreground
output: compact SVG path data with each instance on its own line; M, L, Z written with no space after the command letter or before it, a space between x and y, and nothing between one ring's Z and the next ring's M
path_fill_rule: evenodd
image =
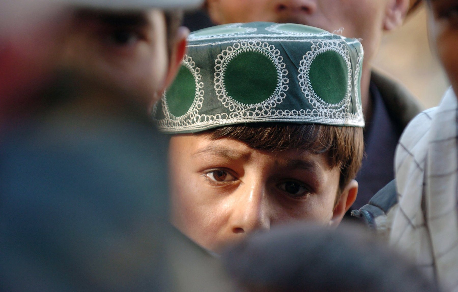
M49 114L0 145L1 291L170 291L165 139L150 123Z

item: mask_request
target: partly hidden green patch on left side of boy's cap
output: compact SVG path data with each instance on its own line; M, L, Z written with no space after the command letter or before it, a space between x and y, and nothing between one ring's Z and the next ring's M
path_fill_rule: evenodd
M167 89L167 107L175 117L183 116L192 106L196 95L196 80L191 71L181 65L174 83Z

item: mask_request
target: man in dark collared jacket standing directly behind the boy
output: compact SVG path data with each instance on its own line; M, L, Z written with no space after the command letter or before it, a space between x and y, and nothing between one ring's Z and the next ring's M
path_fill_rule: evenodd
M300 23L345 37L359 38L365 50L361 72L365 116L365 153L356 179L359 209L394 178L393 159L398 139L422 107L412 94L373 68L372 61L385 32L400 27L419 0L207 0L205 11L215 24L249 21ZM190 16L192 17L192 16ZM195 28L196 18L185 23ZM201 21L198 19L198 21ZM206 21L202 21L205 25ZM202 28L202 27L201 27ZM341 30L343 28L343 30Z

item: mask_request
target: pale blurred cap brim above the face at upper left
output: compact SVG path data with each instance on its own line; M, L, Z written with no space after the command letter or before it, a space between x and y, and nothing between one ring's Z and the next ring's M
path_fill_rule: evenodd
M203 0L62 0L62 2L99 9L143 10L151 8L192 9L202 5Z

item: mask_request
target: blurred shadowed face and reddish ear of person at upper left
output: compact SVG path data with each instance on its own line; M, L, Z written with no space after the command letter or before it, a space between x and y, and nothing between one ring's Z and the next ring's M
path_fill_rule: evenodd
M121 5L124 9L83 4L75 7L65 36L62 69L82 79L83 94L130 96L146 114L173 80L185 52L181 12L155 8L154 1L143 9L135 4ZM105 106L112 103L110 98Z

